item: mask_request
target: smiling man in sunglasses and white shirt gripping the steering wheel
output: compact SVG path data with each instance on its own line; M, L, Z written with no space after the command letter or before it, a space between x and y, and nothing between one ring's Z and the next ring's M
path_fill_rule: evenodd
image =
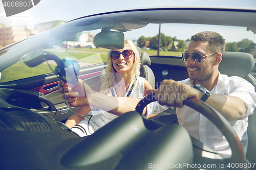
M229 144L218 128L199 112L183 106L184 99L196 97L218 110L236 131L246 154L247 116L253 114L256 94L254 87L246 80L220 74L218 66L224 51L225 40L216 32L201 32L192 36L186 52L182 54L189 78L179 82L162 81L156 98L161 105L176 107L179 124L191 136L229 157ZM169 91L170 88L173 90ZM157 106L155 112L161 109L164 107Z

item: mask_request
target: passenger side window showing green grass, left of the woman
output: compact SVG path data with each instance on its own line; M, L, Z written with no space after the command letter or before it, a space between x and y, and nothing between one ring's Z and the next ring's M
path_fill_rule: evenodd
M77 48L77 46L71 45L67 47L66 42L53 45L44 51L50 52L60 59L79 61L81 67L105 62L104 58L107 53L107 50L103 48L86 48L83 46ZM49 60L48 63L53 70L57 66L53 60ZM47 62L35 67L29 67L24 62L17 62L1 72L0 83L49 74L51 72L52 70Z

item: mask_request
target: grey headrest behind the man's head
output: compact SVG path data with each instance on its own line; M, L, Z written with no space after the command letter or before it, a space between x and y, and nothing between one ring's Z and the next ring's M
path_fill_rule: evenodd
M224 52L222 61L219 64L221 74L227 76L247 77L254 67L254 60L251 54L241 52Z

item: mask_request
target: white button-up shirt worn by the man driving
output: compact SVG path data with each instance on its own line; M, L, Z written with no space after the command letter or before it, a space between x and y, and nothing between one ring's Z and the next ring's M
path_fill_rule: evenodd
M189 78L179 82L193 86L193 80ZM237 133L243 144L244 151L246 152L248 147L248 137L246 133L248 115L253 114L253 110L256 107L256 93L254 87L240 77L228 77L227 75L221 75L219 72L218 83L211 89L210 93L236 96L244 102L246 113L243 119L234 120L229 123ZM153 114L160 113L168 107L161 106L155 102L155 108ZM197 138L224 157L230 157L231 149L226 138L208 118L187 106L176 108L176 113L179 124L185 127L189 135Z

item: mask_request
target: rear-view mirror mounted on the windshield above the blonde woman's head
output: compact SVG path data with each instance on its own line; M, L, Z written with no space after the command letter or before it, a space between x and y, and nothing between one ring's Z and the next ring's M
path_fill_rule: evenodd
M124 46L124 34L119 31L104 31L96 34L93 39L93 44L97 47L122 49Z

